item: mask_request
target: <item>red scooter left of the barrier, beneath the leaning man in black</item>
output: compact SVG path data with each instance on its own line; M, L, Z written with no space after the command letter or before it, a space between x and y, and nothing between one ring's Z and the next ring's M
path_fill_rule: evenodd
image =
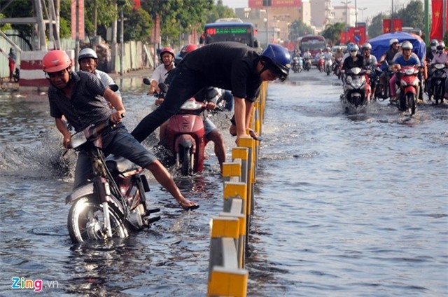
M146 83L147 80L144 80ZM168 87L165 83L158 85L160 92L155 97L164 98ZM204 152L207 145L204 119L201 113L207 104L196 99L188 99L174 116L169 118L165 139L161 143L169 151L169 163L181 169L183 175L192 175L204 170Z

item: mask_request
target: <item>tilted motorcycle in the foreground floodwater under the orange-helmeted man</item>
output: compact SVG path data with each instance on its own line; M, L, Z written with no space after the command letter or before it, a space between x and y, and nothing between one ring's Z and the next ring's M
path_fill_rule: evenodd
M113 126L107 120L71 137L69 148L86 152L93 170L92 180L65 200L71 204L67 225L73 243L127 237L130 230L148 228L160 219L151 217L160 209L148 209L144 169L122 157L104 158L101 134Z

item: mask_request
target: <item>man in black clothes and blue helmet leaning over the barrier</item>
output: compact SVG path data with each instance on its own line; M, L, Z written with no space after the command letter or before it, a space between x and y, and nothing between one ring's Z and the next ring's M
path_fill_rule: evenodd
M164 102L141 120L132 135L143 141L179 111L183 102L202 88L214 86L232 91L238 143L250 137L246 131L262 81L284 81L289 69L288 50L277 44L269 44L261 55L255 48L230 41L198 48L179 63Z

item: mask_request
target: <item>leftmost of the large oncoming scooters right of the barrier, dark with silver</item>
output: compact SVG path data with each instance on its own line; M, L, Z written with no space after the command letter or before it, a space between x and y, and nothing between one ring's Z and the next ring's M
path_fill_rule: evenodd
M346 111L355 109L358 111L368 102L368 86L365 79L367 71L359 67L347 69L345 72L344 94L341 95L341 103Z

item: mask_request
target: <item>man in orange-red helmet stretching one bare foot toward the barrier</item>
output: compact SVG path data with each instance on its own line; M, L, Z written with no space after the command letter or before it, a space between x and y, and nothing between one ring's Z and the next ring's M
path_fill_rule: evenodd
M62 116L65 116L76 131L111 120L116 125L102 132L105 155L113 153L148 169L184 209L198 207L195 202L183 197L166 168L127 132L125 125L121 123L126 110L115 92L107 88L94 74L71 71L71 60L62 50L48 52L43 57L42 67L51 84L48 88L50 116L55 118L65 148L69 147L71 134ZM102 97L111 103L115 111L109 108ZM80 152L76 163L74 188L82 186L92 176L89 160L87 154Z

